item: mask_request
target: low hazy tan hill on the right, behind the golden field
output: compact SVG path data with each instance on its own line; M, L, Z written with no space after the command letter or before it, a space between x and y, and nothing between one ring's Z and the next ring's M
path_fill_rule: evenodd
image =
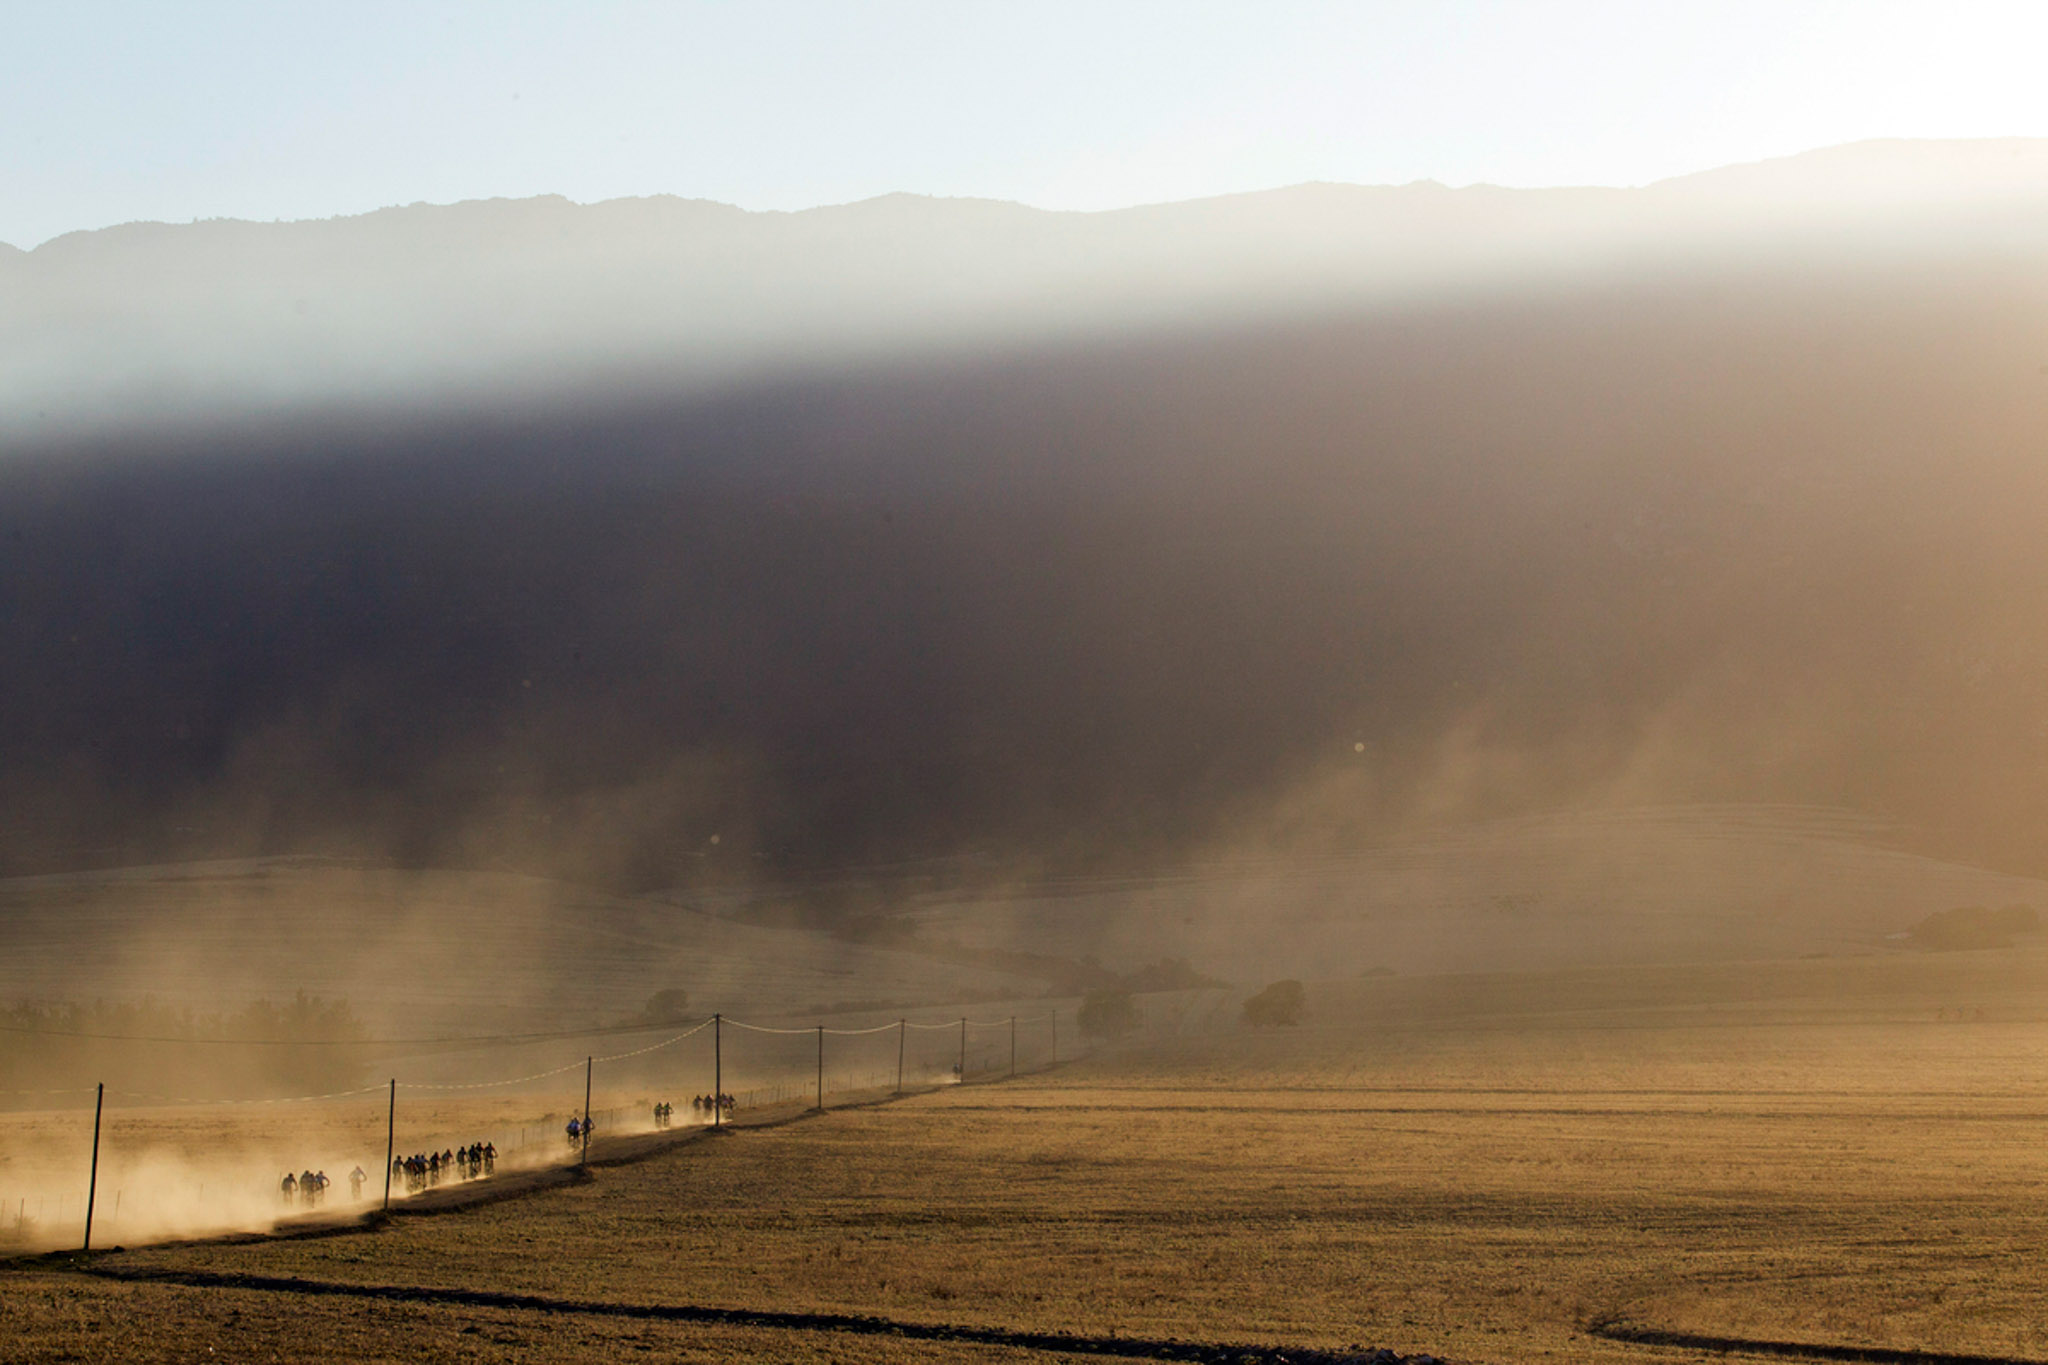
M2048 909L2048 882L1886 843L1868 821L1663 806L1497 821L1378 849L1219 860L1169 878L1061 878L905 896L905 941L1128 966L1161 952L1251 988L1294 976L1530 972L1915 952L1929 913Z

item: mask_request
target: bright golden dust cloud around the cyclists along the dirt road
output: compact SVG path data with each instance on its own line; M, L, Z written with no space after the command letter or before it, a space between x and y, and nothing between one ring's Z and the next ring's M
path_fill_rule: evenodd
M92 1058L96 1070L76 1068L115 1076L98 1115L96 1166L92 1087L41 1091L33 1103L8 1105L0 1132L0 1252L78 1246L88 1197L92 1244L102 1248L317 1228L383 1207L387 1152L399 1162L432 1160L428 1175L393 1173L393 1205L446 1203L582 1160L582 1138L567 1126L586 1113L596 1134L590 1154L604 1160L621 1152L623 1140L680 1140L709 1128L709 1097L719 1085L731 1099L727 1121L756 1121L799 1113L819 1099L838 1105L899 1085L922 1091L1006 1074L1014 1064L1042 1066L1053 1058L1049 1025L1059 1005L1022 1005L1036 1011L1024 1015L1022 1040L997 1017L973 1019L963 1031L956 1019L899 1023L872 1015L840 1017L823 1040L793 1021L766 1019L725 1021L721 1029L711 1019L674 1021L526 1042L362 1040L346 1062L328 1064L330 1085L342 1083L342 1068L356 1072L350 1091L287 1095L289 1087L272 1085L268 1097L244 1091L240 1099L225 1099L219 1087L250 1087L250 1078L223 1066L217 1050L213 1060L203 1046L170 1058L145 1054L152 1064L137 1076L123 1074L137 1046L109 1046ZM403 1078L395 1089L385 1081L360 1085L385 1072ZM655 1105L668 1113L657 1115ZM485 1144L489 1166L471 1164L467 1148ZM455 1152L465 1158L453 1160ZM451 1160L438 1160L442 1154ZM305 1175L315 1183L326 1177L326 1185L307 1195Z

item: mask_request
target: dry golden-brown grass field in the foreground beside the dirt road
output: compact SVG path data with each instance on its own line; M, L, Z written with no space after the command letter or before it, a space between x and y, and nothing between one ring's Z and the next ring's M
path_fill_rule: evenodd
M2044 968L2023 948L1319 986L1298 1029L1155 1029L483 1207L98 1275L16 1263L0 1355L1061 1355L680 1306L1452 1361L1710 1355L1599 1324L2048 1359ZM137 1275L188 1283L117 1279Z

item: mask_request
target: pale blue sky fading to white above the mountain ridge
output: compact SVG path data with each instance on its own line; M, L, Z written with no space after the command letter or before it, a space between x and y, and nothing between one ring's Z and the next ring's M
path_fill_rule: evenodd
M2048 6L0 0L0 241L154 219L895 190L1044 209L1647 184L2048 135Z

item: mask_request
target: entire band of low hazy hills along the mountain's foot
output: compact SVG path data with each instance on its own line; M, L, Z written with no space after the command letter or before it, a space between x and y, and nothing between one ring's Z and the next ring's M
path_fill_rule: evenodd
M375 1036L436 1038L614 1025L668 988L750 1019L1016 1001L1165 958L1231 982L1196 1001L1229 1011L1282 976L1921 956L1905 931L1933 913L2048 909L2048 882L1888 835L1829 810L1663 806L1010 888L870 870L840 878L840 905L788 884L614 896L317 857L141 866L0 880L0 1003L219 1013L307 990Z

